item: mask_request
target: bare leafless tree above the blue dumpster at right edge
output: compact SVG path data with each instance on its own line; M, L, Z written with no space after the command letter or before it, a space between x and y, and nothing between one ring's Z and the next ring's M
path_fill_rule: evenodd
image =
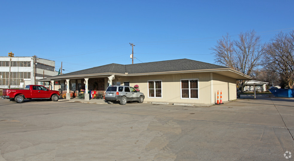
M294 30L278 33L268 44L265 59L267 69L276 73L287 82L289 88L294 86Z

